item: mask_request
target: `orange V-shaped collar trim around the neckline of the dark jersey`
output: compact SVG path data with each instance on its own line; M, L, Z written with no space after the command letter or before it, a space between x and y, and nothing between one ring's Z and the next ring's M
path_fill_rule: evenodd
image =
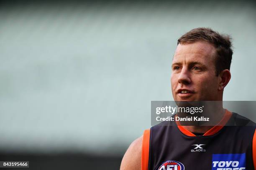
M223 118L220 120L220 122L215 125L214 127L212 127L210 130L208 130L203 136L210 136L210 135L214 135L215 133L217 133L218 131L220 131L224 125L228 122L228 120L230 119L230 117L232 116L232 113L228 110L226 110L225 115L223 116ZM184 126L180 125L179 121L176 121L179 130L184 133L187 136L196 136L194 133L190 132L189 130L187 130L186 128L184 128Z

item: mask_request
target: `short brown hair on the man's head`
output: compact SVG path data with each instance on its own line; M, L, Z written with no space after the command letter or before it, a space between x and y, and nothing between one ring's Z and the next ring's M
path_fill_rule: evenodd
M233 50L229 35L220 34L210 28L195 28L182 35L178 40L178 45L199 40L210 42L216 48L215 71L217 76L225 69L230 70Z

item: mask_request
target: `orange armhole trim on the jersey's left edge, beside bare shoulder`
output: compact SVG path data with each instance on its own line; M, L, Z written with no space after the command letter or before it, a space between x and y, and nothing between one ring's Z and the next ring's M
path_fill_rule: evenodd
M141 150L141 170L148 170L150 130L144 130Z

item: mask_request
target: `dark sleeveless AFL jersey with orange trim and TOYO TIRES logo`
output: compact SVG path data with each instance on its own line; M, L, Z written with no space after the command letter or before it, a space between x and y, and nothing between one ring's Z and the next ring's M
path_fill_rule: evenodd
M143 136L141 170L254 170L256 124L229 111L225 116L225 126L215 126L203 136L176 122L151 127Z

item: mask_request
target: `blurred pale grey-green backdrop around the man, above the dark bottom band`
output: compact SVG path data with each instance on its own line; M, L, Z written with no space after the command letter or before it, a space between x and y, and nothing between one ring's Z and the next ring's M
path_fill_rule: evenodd
M122 156L173 100L177 39L197 27L233 37L224 100L256 100L251 1L40 2L0 7L0 150Z

